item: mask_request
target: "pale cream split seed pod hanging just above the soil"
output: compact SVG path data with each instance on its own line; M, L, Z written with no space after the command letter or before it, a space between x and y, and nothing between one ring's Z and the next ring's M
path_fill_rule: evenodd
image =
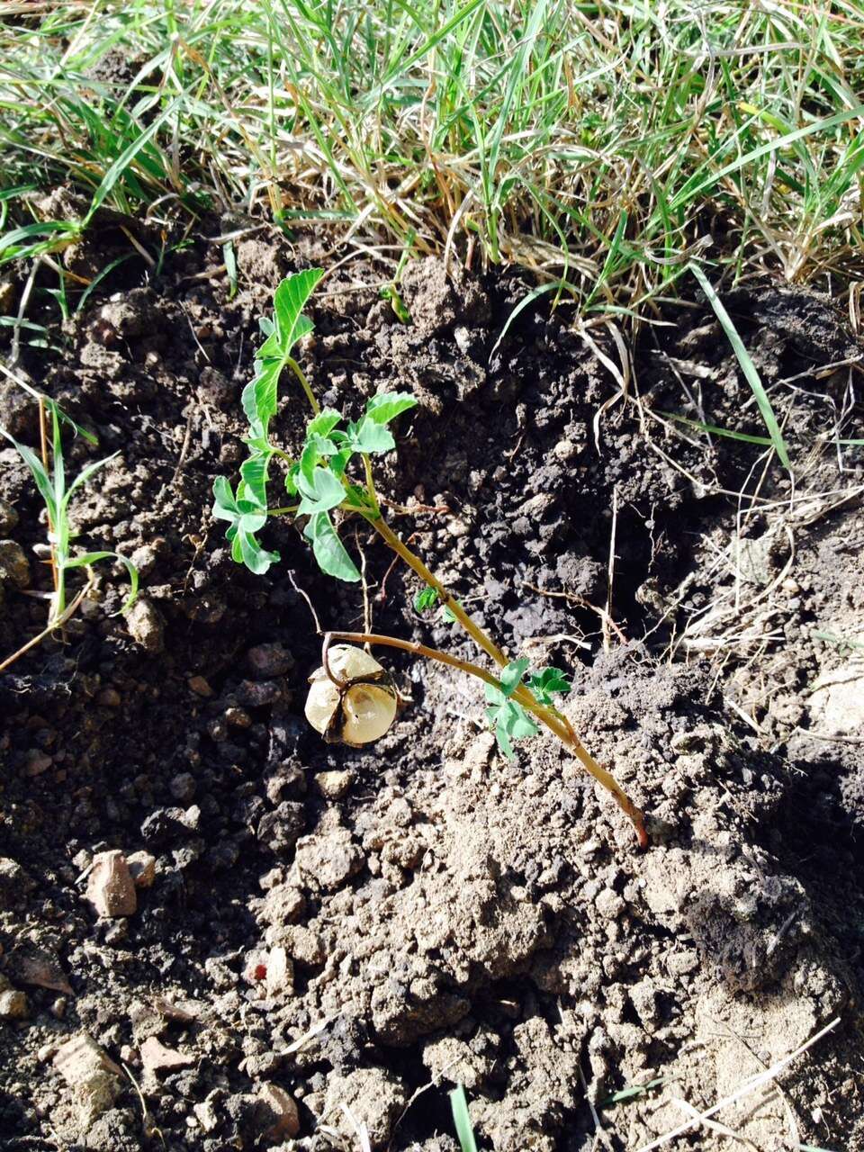
M336 644L327 653L334 684L325 668L309 677L306 720L328 743L359 748L382 736L396 715L396 690L387 672L369 652Z

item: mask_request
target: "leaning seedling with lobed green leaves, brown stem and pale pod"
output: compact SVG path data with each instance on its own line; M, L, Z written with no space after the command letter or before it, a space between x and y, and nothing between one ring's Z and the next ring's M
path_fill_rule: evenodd
M415 598L417 611L440 605L447 619L455 621L471 637L498 672L493 675L479 665L394 636L327 632L324 637L323 667L312 677L306 706L310 722L328 738L340 738L341 735L344 740L347 734L348 742L356 744L366 742L361 738L364 735L370 740L378 738L395 715L395 699L389 695L388 682L384 683L386 674L378 661L356 647L331 649L333 641L402 649L449 665L484 682L488 705L486 715L505 756L514 756L513 741L536 735L543 725L613 795L632 821L639 844L645 847L644 814L586 751L567 717L555 705L556 697L570 689L564 673L558 668L531 673L528 660L509 660L384 518L374 485L372 457L395 448L389 425L402 412L414 408L417 401L407 393L379 393L366 402L358 419L347 420L334 408L321 409L316 400L291 351L296 341L312 328L303 316L303 306L323 275L320 268L310 268L283 280L275 291L273 319L260 321L265 340L255 358L253 379L243 389L242 396L243 410L249 419L249 456L241 465L236 490L225 477L215 480L213 515L228 522L226 535L234 559L257 574L266 573L279 560L275 552L267 552L258 541L258 532L267 518L302 518L303 535L312 546L318 567L328 576L348 583L358 582L361 574L339 537L333 517L359 516L419 577L422 589ZM300 381L312 410L296 458L270 439L270 422L276 412L279 378L285 367L289 367ZM271 508L267 485L274 458L287 465L283 483L293 502ZM362 661L361 655L376 667ZM325 680L329 685L327 688L324 687ZM362 720L358 719L359 711L364 712ZM369 735L371 733L374 735Z

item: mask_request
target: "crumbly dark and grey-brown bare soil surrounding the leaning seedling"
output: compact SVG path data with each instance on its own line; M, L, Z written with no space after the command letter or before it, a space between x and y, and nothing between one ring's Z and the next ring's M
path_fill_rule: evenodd
M462 1083L483 1147L636 1152L835 1020L713 1119L748 1147L863 1147L864 477L829 437L839 415L861 437L862 412L857 370L825 367L859 355L854 335L799 291L727 300L793 491L759 446L706 447L661 415L764 432L703 305L643 334L620 395L561 313L526 309L499 341L513 274L409 265L404 325L356 262L310 309L302 359L326 403L417 396L381 486L422 507L393 523L514 655L574 669L574 726L650 813L638 854L551 737L505 759L450 669L392 661L408 703L372 750L305 725L319 642L298 589L325 626L371 614L470 646L412 612L410 575L353 523L365 607L288 523L268 526L266 577L230 561L210 490L243 455L257 317L317 255L257 226L235 247L236 293L199 238L156 280L126 260L62 327L37 293L52 348L22 341L18 370L119 453L75 526L132 555L143 588L113 614L122 570L103 568L65 643L0 675L2 1147L452 1152ZM66 258L92 275L127 253L108 220ZM305 414L282 388L290 450ZM37 442L9 388L0 420ZM92 458L68 442L70 471ZM25 593L48 575L29 476L12 449L0 464L6 653L44 626ZM134 912L97 919L88 872L109 849L154 874ZM107 1063L76 1087L54 1055L81 1032Z

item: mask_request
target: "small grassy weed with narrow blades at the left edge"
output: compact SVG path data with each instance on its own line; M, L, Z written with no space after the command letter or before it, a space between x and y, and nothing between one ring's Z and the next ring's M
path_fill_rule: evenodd
M31 389L28 388L28 392L30 391ZM0 427L0 435L3 435L14 446L21 458L30 469L33 480L36 482L36 486L39 490L39 494L45 502L48 521L50 563L54 590L48 597L48 621L45 630L25 644L24 647L15 652L12 657L3 660L0 665L0 670L7 668L14 660L26 652L28 649L31 649L35 644L39 643L39 641L44 639L44 637L50 632L62 627L62 624L66 623L81 604L89 589L92 586L92 581L89 579L85 588L82 589L74 597L73 601L67 605L67 573L76 568L85 568L90 571L91 567L100 560L120 560L121 563L126 564L130 583L129 596L120 611L127 612L132 606L135 598L138 594L138 570L131 560L128 560L119 552L101 551L75 554L71 548L73 532L69 524L69 501L71 500L73 494L82 485L91 480L96 472L98 472L100 468L104 468L109 461L114 460L119 453L106 456L105 460L98 460L92 464L88 464L75 477L71 484L67 484L66 467L63 463L61 424L68 424L77 434L83 435L90 444L96 444L96 438L90 432L86 432L84 429L75 424L75 422L70 419L66 412L63 412L60 407L54 403L53 400L50 400L47 396L43 396L39 393L33 393L33 395L39 404L41 458L33 452L32 448L29 448L24 444L20 444L6 429ZM51 462L48 461L48 419L51 422Z

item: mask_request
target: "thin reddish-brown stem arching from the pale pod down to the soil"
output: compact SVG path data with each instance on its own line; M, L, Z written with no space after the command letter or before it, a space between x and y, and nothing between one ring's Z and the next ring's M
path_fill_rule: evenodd
M484 684L491 684L493 688L501 687L497 676L493 676L491 672L486 672L485 668L480 668L479 665L471 664L469 660L461 660L458 657L450 655L448 652L441 652L439 649L427 647L425 644L417 644L414 641L403 641L396 636L382 636L379 632L325 632L323 654L325 668L327 668L327 649L329 647L332 641L349 641L354 644L380 644L386 647L401 649L403 652L411 652L414 655L422 655L426 660L437 660L439 664L446 664L450 668L458 668L460 672L464 672L469 676L476 676L478 680L482 680ZM518 688L513 694L513 698L518 699L520 704L522 704L526 712L531 712L536 715L540 723L545 725L550 732L554 733L562 744L576 753L584 768L594 778L594 780L597 780L598 783L602 785L602 787L612 794L615 803L628 816L636 828L639 847L647 848L649 839L647 832L645 831L644 812L632 803L629 796L627 796L612 773L607 772L606 768L604 768L601 764L598 764L593 756L586 751L567 717L562 715L555 708L540 704L535 699L533 694L530 692L529 689L524 688L524 685Z

